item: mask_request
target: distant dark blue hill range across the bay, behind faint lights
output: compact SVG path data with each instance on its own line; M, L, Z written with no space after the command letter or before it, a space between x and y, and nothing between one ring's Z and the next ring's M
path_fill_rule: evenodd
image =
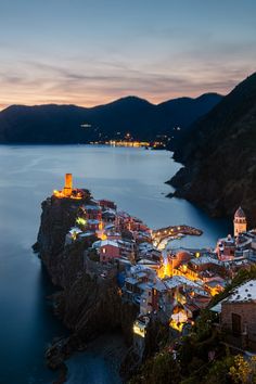
M84 143L99 139L154 140L157 135L176 137L220 100L216 93L197 99L181 98L154 105L127 97L91 108L76 105L12 105L0 112L1 143Z

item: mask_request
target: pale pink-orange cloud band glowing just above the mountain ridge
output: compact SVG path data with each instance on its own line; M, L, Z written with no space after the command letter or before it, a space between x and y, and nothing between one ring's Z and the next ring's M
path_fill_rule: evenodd
M244 48L244 52L249 44ZM151 61L146 65L132 61L99 60L80 56L76 60L21 61L0 73L0 104L73 103L85 106L102 104L128 94L154 103L167 99L204 92L229 92L255 71L253 61L227 60L238 49L216 59L217 44L199 54L182 52ZM206 54L207 53L207 54ZM253 56L253 53L252 53ZM225 59L223 59L225 57Z

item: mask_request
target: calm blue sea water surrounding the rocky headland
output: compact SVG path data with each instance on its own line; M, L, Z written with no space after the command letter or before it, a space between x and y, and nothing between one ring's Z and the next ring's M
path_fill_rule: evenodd
M52 287L30 251L41 201L62 188L65 172L73 172L77 187L89 188L95 197L116 201L153 228L192 225L203 229L204 235L187 238L184 244L213 246L230 230L228 223L208 218L185 201L165 197L171 188L164 181L178 168L165 151L0 146L0 384L51 383L43 350L53 336L64 332L44 299ZM85 372L79 367L77 373L72 361L69 383L112 383L104 359L90 354L85 359L89 367ZM84 379L74 381L78 376Z

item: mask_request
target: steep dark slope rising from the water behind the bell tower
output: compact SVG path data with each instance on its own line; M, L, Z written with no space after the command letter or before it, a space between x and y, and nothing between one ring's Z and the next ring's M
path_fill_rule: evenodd
M170 180L176 196L213 216L242 205L256 225L256 74L191 127L175 158L184 167Z

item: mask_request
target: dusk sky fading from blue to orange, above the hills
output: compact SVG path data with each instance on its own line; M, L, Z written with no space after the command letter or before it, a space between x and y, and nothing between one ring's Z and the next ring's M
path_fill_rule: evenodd
M0 110L227 94L256 69L255 0L0 0Z

